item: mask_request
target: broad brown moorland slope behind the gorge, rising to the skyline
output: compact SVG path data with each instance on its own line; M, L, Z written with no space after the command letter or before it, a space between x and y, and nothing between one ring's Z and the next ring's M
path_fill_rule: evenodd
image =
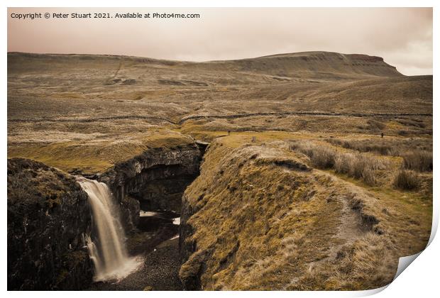
M330 115L285 114L297 111ZM227 131L274 130L431 138L432 118L420 115L431 112L432 76L405 77L367 55L310 52L195 63L8 54L9 157L65 169L101 170L118 160L105 148L132 144L124 148L126 158L141 150L133 140L161 138L168 134L163 128L205 140ZM241 116L216 118L231 114Z

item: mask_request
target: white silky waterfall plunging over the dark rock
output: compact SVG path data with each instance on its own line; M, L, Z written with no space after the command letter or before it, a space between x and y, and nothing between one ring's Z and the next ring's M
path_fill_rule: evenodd
M124 245L119 208L105 183L78 177L77 182L89 195L94 233L87 236L87 248L94 263L95 281L121 280L141 266L140 258L130 258Z

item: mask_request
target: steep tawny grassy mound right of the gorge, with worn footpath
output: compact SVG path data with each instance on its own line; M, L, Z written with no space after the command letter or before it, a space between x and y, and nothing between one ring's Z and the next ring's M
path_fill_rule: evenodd
M427 244L431 199L388 183L400 167L393 158L370 187L317 166L292 142L319 140L233 133L211 144L184 195L184 245L194 248L180 270L187 288L372 289Z

